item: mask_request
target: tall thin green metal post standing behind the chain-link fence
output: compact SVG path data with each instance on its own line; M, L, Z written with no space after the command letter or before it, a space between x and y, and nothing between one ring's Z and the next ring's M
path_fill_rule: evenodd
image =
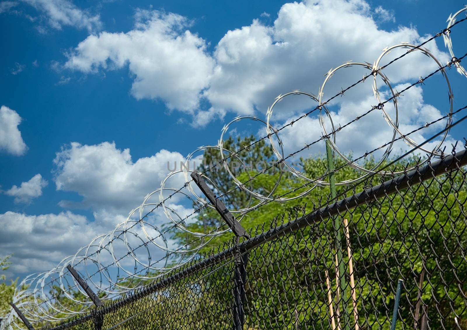
M327 167L329 171L329 187L331 188L331 197L336 197L336 179L334 178L334 160L333 160L333 151L331 149L331 144L329 140L326 139L326 157L327 157ZM339 221L339 217L334 217L334 230L336 232L336 253L337 253L337 260L338 260L338 268L339 268L339 277L340 277L340 292L341 292L341 299L342 302L342 311L344 312L344 329L350 330L350 319L347 310L347 302L349 299L349 294L347 294L347 283L346 283L346 271L344 268L344 259L342 258L342 236L341 231L344 229L342 221Z

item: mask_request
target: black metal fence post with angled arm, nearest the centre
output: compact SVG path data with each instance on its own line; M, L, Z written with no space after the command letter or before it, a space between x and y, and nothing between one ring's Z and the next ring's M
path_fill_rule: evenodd
M193 171L191 173L191 178L233 231L237 237L237 244L239 243L240 237L246 237L248 239L249 236L245 229L237 220L235 220L235 217L229 212L224 203L221 200L216 199L211 188L208 187L198 171ZM243 306L246 298L245 282L247 280L247 262L248 252L242 255L240 251L238 251L235 255L235 270L233 277L233 330L242 330L243 324L245 323L245 310Z

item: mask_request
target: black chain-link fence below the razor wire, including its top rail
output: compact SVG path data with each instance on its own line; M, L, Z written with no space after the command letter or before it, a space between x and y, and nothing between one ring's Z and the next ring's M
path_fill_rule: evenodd
M42 329L467 329L466 164L462 150L392 179L373 176L363 191L297 209Z

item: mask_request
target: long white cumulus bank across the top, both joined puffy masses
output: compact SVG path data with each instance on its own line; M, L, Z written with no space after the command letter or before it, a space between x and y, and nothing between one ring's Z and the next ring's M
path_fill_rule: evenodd
M79 43L65 67L96 72L128 64L136 98L161 98L170 109L198 115L198 126L216 118L215 113L220 118L228 111L264 114L280 93L318 93L331 67L350 59L373 63L387 45L423 39L413 27L380 29L377 19L391 20L391 13L372 9L363 0L286 3L272 25L255 19L227 31L212 54L206 53L203 39L184 30L189 26L186 18L157 11L138 11L136 16L135 28L127 33L104 32ZM447 60L435 43L428 46ZM435 67L423 57L407 57L404 67L385 73L396 83L418 78ZM329 86L340 90L335 81ZM201 95L209 110L199 106ZM287 117L304 108L298 103L281 112Z

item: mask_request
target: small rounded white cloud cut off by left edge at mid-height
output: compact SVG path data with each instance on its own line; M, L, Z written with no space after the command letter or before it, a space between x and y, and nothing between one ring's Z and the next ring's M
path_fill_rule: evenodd
M5 150L15 156L21 156L28 150L18 129L20 122L21 117L16 111L6 106L1 106L0 150Z

